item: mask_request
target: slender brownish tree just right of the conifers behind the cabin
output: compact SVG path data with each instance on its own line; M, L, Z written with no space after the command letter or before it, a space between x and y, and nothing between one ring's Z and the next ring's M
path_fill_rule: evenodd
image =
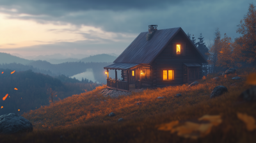
M208 60L208 63L209 65L211 66L211 70L210 70L210 73L213 72L213 73L216 73L216 64L217 64L217 61L218 61L218 53L220 53L220 49L221 49L221 34L220 34L220 31L219 29L217 28L215 30L215 33L214 33L214 43L210 46L210 49L209 49L209 60Z

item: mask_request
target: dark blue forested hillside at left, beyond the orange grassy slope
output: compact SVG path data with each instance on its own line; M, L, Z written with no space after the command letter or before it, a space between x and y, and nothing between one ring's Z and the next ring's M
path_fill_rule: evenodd
M55 100L61 100L72 96L72 94L80 94L84 92L84 89L90 91L94 89L97 84L88 83L62 83L61 80L64 77L58 77L55 79L49 75L43 75L41 73L34 73L31 70L26 72L13 72L13 70L0 69L0 94L3 98L6 94L8 97L6 100L0 100L0 116L10 112L22 114L29 110L34 110L42 105L49 105L49 95L47 89L57 92ZM2 73L3 72L3 73ZM74 80L74 79L66 79ZM17 88L15 90L14 88ZM18 111L20 109L20 111Z

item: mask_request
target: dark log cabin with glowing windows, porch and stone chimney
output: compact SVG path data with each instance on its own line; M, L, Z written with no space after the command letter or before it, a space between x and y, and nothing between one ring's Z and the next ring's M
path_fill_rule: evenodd
M150 25L113 63L104 67L107 87L131 91L190 84L202 78L202 63L207 60L181 27L157 30L157 25ZM109 78L109 70L115 70L115 79ZM121 70L122 80L116 70Z

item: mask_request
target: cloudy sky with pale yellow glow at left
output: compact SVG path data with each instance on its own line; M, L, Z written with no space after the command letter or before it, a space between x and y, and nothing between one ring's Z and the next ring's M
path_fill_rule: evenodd
M205 43L221 34L236 38L239 21L252 0L0 0L0 52L50 54L120 54L157 24L202 33ZM256 3L253 3L256 4Z

